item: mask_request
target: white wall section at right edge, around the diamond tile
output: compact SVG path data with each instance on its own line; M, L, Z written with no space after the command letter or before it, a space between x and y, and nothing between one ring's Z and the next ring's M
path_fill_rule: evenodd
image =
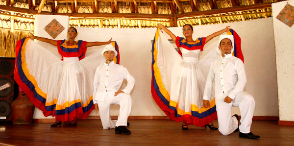
M276 19L287 3L294 6L294 0L272 4L280 121L294 121L294 26Z

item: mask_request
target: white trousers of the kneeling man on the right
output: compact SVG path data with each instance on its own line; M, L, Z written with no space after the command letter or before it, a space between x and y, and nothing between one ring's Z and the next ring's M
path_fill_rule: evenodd
M235 106L241 111L240 132L249 133L255 107L254 98L247 92L239 92L231 103L226 103L223 101L225 97L216 97L219 131L222 135L229 135L238 128L237 119L231 117L232 106Z

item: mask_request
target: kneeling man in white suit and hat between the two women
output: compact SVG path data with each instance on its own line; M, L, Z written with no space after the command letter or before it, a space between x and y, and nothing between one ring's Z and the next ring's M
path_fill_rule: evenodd
M132 91L135 79L122 65L115 64L113 58L118 52L109 44L101 52L105 57L105 63L100 65L94 77L93 102L96 112L100 114L103 129L115 128L115 133L131 134L125 127L128 125L127 118L131 112ZM127 80L127 86L120 91L123 79ZM120 105L118 120L111 120L110 105Z

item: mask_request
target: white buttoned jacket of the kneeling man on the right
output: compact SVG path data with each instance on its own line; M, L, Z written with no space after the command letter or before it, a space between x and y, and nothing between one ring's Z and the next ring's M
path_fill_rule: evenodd
M239 92L244 90L247 81L242 60L232 54L227 54L211 64L204 89L203 99L205 100L210 100L214 79L215 97L223 97L224 94L234 99Z

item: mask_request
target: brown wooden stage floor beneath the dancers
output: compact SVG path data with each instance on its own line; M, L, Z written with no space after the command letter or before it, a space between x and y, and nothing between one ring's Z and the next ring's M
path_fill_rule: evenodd
M277 121L253 121L251 132L261 136L258 140L239 138L239 132L222 136L218 130L196 126L184 131L180 122L171 120L129 122L131 135L103 130L100 120L79 120L72 127L0 123L0 146L294 146L294 126L281 126Z

